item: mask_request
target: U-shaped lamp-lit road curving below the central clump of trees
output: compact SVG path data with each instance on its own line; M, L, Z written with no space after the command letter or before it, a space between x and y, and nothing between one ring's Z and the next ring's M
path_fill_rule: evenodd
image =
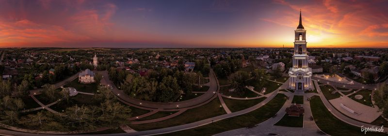
M101 82L101 84L107 83L109 85L114 85L113 82L109 80L108 71L97 71L97 72L101 73L105 77L102 79L102 80L105 80L105 82ZM217 93L218 85L216 81L216 76L212 69L210 69L209 79L210 79L209 90L205 94L200 95L194 99L180 101L180 102L162 103L162 102L150 102L150 101L140 100L124 94L122 90L119 90L116 87L112 89L112 92L114 95L116 95L123 101L126 101L130 104L133 104L139 107L145 107L148 109L182 109L182 108L193 107L195 105L204 103Z

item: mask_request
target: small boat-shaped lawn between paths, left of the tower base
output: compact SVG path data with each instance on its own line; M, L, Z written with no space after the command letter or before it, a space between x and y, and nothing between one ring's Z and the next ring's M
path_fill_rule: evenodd
M255 106L258 103L262 102L265 98L266 97L261 97L261 98L252 99L252 100L235 100L235 99L229 99L224 97L223 99L227 108L229 108L230 111L232 112L236 112L242 109L247 109L252 106Z

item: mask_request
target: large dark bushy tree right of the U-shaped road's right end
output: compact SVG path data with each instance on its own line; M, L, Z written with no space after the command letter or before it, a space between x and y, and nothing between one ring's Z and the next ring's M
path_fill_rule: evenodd
M228 77L230 85L239 95L243 94L242 90L245 88L246 80L248 79L250 79L250 76L246 71L237 71Z

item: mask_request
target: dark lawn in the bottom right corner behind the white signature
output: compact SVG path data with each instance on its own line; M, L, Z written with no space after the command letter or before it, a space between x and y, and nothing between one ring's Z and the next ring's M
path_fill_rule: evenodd
M311 111L317 126L325 133L331 136L387 136L384 133L373 133L360 131L360 127L356 127L340 121L332 115L323 105L319 96L312 96L310 99Z

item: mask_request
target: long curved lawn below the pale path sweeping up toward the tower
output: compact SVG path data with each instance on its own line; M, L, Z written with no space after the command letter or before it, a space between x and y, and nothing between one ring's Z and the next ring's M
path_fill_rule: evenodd
M200 127L163 134L163 136L212 136L221 132L249 127L264 122L275 115L275 113L286 102L286 95L277 94L271 101L259 109L249 113L213 122Z

